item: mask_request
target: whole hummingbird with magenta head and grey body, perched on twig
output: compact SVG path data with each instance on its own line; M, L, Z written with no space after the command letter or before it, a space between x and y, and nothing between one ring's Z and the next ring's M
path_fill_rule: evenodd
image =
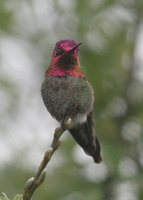
M56 43L41 95L51 116L61 127L70 121L68 131L74 140L95 163L100 163L101 148L93 112L94 91L80 67L80 45L70 39Z

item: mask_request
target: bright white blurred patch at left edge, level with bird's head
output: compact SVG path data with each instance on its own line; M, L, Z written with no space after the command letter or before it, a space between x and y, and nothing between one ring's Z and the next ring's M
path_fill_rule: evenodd
M21 88L30 86L29 84L35 82L33 75L36 67L26 53L26 44L16 38L3 37L0 38L0 46L3 47L0 48L1 74L18 86L20 85Z

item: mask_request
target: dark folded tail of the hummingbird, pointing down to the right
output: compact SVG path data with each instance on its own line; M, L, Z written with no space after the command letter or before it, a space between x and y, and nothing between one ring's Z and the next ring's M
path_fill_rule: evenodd
M87 117L87 121L84 124L74 127L69 131L85 153L93 157L95 163L102 161L100 153L101 147L95 133L92 113Z

